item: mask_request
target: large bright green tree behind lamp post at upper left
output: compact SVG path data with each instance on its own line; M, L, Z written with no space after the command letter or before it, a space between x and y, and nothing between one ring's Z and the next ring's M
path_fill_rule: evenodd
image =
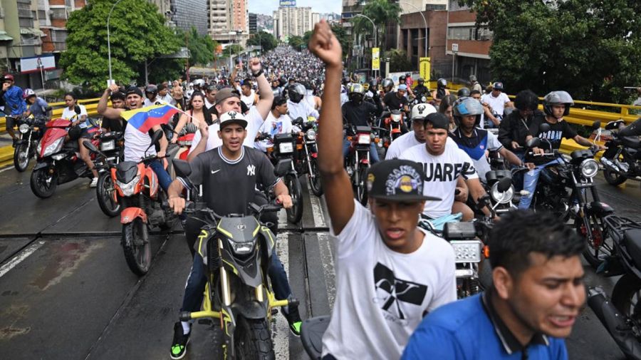
M63 76L93 91L105 88L108 70L107 22L113 1L91 0L67 21L67 51L61 54ZM177 51L179 42L165 26L165 17L147 1L123 0L110 19L113 78L130 83L144 76L141 64Z

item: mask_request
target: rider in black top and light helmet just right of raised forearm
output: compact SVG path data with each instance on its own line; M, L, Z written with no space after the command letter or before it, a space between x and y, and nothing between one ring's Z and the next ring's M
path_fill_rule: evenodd
M344 103L341 106L343 113L343 121L348 129L345 131L343 136L343 157L346 157L350 152L350 141L347 139L348 135L353 134L353 130L356 126L372 126L370 123L370 118L375 115L379 115L382 112L382 107L380 106L380 99L378 96L374 98L374 104L363 101L363 95L365 94L365 88L360 83L352 83L349 88L349 98L350 101ZM372 141L370 143L370 163L378 163L378 152L376 150L376 144Z

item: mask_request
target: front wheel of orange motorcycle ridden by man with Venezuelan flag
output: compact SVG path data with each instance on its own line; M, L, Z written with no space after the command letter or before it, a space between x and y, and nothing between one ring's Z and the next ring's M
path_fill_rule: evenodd
M123 251L127 265L134 274L147 274L151 264L151 245L147 224L140 217L123 225Z

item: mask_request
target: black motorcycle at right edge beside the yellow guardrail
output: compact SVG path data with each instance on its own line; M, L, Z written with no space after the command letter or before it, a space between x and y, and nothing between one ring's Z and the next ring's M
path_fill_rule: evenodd
M641 180L641 140L635 130L641 129L641 118L624 128L622 120L611 121L605 130L612 131L612 140L605 143L601 157L603 177L610 185L621 185L626 180Z

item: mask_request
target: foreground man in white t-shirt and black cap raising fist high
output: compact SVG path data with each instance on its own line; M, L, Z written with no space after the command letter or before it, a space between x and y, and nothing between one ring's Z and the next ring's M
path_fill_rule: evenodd
M340 151L338 39L325 20L309 42L326 66L318 168L336 249L338 289L323 335L323 360L399 359L424 314L456 299L454 251L417 227L426 201L424 173L407 160L370 168L370 210L353 200Z

